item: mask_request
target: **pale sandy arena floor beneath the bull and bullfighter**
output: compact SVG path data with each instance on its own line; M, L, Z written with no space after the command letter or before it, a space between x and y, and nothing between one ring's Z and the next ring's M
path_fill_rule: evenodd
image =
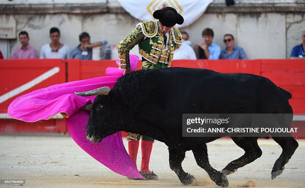
M228 176L229 187L243 187L247 181L253 187L305 187L305 140L297 140L299 148L285 165L278 178L271 180L271 168L282 149L273 140L260 139L263 155ZM150 169L159 177L156 181L136 181L112 172L85 153L69 136L0 136L0 179L25 179L25 187L218 187L207 173L196 165L191 151L182 163L184 170L197 179L195 185L183 186L168 164L165 144L156 141L152 149ZM124 139L125 147L127 141ZM211 165L221 170L240 157L243 150L231 139L218 139L208 144ZM141 165L141 150L138 168ZM253 183L252 182L252 183ZM0 185L0 187L14 187Z

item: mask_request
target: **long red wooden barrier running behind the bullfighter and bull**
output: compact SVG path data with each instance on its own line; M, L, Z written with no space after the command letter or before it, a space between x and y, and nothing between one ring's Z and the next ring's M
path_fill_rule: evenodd
M9 103L16 97L66 81L106 76L107 67L117 67L117 65L114 60L0 60L0 79L4 80L0 83L0 99L8 97L5 101L0 101L0 113L7 113ZM174 60L172 67L202 68L221 73L251 73L265 76L292 93L292 99L289 102L295 114L305 114L304 60ZM138 63L137 70L140 68L141 61ZM59 71L56 72L57 70ZM45 78L42 75L48 78L41 80ZM30 88L23 90L24 87ZM24 129L24 126L29 128ZM0 132L66 132L66 127L63 119L39 121L29 126L29 123L0 117Z

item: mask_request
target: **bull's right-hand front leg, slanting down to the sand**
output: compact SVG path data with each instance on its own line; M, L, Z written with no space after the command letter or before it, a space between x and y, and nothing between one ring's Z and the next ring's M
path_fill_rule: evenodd
M218 186L226 187L229 185L227 176L224 173L218 172L210 165L206 144L197 145L192 148L192 151L197 165L203 168Z

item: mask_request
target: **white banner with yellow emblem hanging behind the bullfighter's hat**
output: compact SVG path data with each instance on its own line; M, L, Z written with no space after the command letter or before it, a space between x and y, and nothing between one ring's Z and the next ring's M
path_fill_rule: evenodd
M182 25L186 27L196 21L213 0L117 0L121 6L138 20L153 20L153 12L170 6L177 10L184 18Z

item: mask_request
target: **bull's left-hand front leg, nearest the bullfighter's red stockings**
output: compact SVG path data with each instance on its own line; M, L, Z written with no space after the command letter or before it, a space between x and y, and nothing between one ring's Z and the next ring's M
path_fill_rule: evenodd
M185 152L183 150L177 150L173 148L168 148L169 151L169 162L170 162L170 169L172 169L180 179L181 183L184 185L189 185L193 183L195 180L194 176L184 172L182 169L182 161L185 158Z

